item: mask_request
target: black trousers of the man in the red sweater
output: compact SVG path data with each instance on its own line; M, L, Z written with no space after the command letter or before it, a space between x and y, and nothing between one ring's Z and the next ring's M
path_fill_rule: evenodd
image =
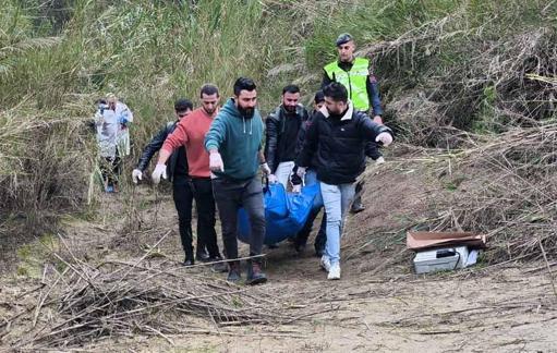
M192 178L190 187L197 208L197 251L207 248L210 257L220 256L215 231L215 198L209 178Z

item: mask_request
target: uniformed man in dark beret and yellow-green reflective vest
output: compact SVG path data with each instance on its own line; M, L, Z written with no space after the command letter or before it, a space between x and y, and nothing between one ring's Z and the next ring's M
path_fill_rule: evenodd
M338 82L348 89L348 98L352 101L355 110L370 113L373 121L383 124L383 108L379 98L379 87L377 78L373 74L371 62L365 58L355 58L354 38L343 33L336 40L339 58L328 63L324 68L322 89L331 82ZM383 156L377 148L377 144L370 142L368 155L378 163L384 162ZM356 185L358 195L352 204L352 212L356 214L365 209L362 205L361 194L363 192L363 181Z

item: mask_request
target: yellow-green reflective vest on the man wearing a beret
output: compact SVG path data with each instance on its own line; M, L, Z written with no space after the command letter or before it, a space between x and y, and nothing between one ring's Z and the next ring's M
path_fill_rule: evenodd
M324 69L331 81L347 87L348 97L352 100L355 109L367 111L370 109L370 98L367 96L368 68L370 60L355 58L352 69L348 72L340 69L338 61L329 63Z

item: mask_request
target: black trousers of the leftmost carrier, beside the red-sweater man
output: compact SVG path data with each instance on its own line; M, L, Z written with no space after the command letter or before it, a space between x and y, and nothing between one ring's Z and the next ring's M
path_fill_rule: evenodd
M192 205L193 192L185 178L177 178L172 183L172 197L174 198L175 210L178 211L178 228L180 240L185 257L193 260L192 246ZM197 249L199 249L199 238L197 236Z

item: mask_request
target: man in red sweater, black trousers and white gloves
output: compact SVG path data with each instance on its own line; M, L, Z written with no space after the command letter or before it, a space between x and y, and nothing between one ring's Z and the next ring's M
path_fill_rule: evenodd
M199 93L202 107L192 111L192 113L180 121L175 131L170 134L159 153L157 167L153 172L153 181L157 184L160 178L166 178L165 163L177 148L185 146L185 155L189 166L189 184L192 196L197 206L197 249L196 259L201 261L220 261L222 260L217 244L217 233L215 231L215 198L210 182L209 155L205 150L205 134L209 130L215 115L218 112L219 92L214 85L204 85ZM191 241L190 241L191 244ZM204 257L204 249L207 247L209 257ZM185 254L184 263L193 264L193 249L191 245ZM221 265L215 265L221 269Z

